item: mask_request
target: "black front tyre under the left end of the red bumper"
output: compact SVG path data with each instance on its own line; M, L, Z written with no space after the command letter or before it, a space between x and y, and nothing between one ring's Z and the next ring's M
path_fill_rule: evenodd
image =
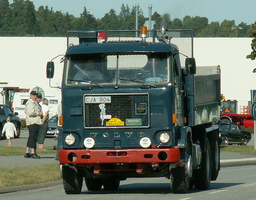
M68 166L62 167L63 175L63 186L65 193L69 194L80 194L83 186L83 177Z

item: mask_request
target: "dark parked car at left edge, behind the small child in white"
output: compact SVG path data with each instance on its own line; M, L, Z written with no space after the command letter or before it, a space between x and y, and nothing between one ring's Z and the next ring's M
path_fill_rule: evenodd
M19 138L21 125L20 125L20 118L17 117L16 115L18 115L18 113L13 113L10 106L5 105L5 104L0 105L0 132L1 132L1 134L2 134L4 124L6 123L6 119L8 117L10 117L11 122L14 123L16 130L17 130L17 134L18 134L18 136L15 136L15 138ZM3 138L5 138L5 137L3 137Z

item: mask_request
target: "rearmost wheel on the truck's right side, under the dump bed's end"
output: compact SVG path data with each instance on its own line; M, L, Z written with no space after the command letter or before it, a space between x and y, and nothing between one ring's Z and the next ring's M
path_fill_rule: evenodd
M211 181L215 181L218 177L220 170L220 147L219 147L219 136L217 134L213 134L210 139L211 146L211 160L212 160L212 168L211 168Z

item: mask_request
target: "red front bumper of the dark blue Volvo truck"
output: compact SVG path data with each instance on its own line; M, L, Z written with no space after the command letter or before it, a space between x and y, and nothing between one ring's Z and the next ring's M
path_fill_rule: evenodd
M85 150L60 149L60 163L74 165L90 165L105 163L148 163L177 162L180 150L172 149L116 149L116 150Z

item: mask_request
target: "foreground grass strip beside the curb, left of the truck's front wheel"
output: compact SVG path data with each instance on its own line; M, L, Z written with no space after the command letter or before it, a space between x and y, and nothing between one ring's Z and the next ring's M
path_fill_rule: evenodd
M59 164L0 168L0 188L60 180Z

